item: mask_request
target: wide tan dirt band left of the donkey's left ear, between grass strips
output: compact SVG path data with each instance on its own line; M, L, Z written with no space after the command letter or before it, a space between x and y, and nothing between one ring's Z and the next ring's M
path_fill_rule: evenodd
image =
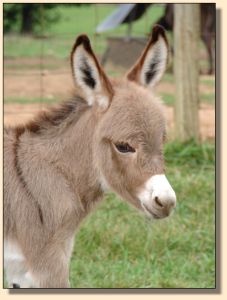
M4 58L4 98L63 98L72 87L69 59Z

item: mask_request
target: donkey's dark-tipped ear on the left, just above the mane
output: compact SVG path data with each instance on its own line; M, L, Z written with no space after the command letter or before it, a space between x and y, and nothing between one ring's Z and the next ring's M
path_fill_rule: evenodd
M75 83L85 93L88 105L97 103L107 108L113 97L113 89L86 35L80 35L73 46L71 66Z

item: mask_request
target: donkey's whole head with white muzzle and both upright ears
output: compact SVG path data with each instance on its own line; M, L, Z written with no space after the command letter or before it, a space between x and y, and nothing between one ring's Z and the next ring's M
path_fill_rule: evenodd
M176 205L164 175L165 118L151 91L167 59L160 26L153 28L141 57L120 80L108 79L86 36L78 37L71 53L75 82L97 119L92 151L100 184L154 218L168 216Z

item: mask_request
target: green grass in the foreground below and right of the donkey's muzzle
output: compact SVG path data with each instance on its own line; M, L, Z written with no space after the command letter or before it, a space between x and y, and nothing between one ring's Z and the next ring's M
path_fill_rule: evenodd
M151 222L108 194L76 235L72 287L215 287L214 145L172 142L165 156L175 213Z

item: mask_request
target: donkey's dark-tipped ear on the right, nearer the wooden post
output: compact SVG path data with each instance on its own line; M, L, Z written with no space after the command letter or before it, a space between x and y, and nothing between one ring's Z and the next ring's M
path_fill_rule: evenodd
M128 72L127 78L144 86L154 87L165 72L168 42L162 26L155 25L142 55Z

